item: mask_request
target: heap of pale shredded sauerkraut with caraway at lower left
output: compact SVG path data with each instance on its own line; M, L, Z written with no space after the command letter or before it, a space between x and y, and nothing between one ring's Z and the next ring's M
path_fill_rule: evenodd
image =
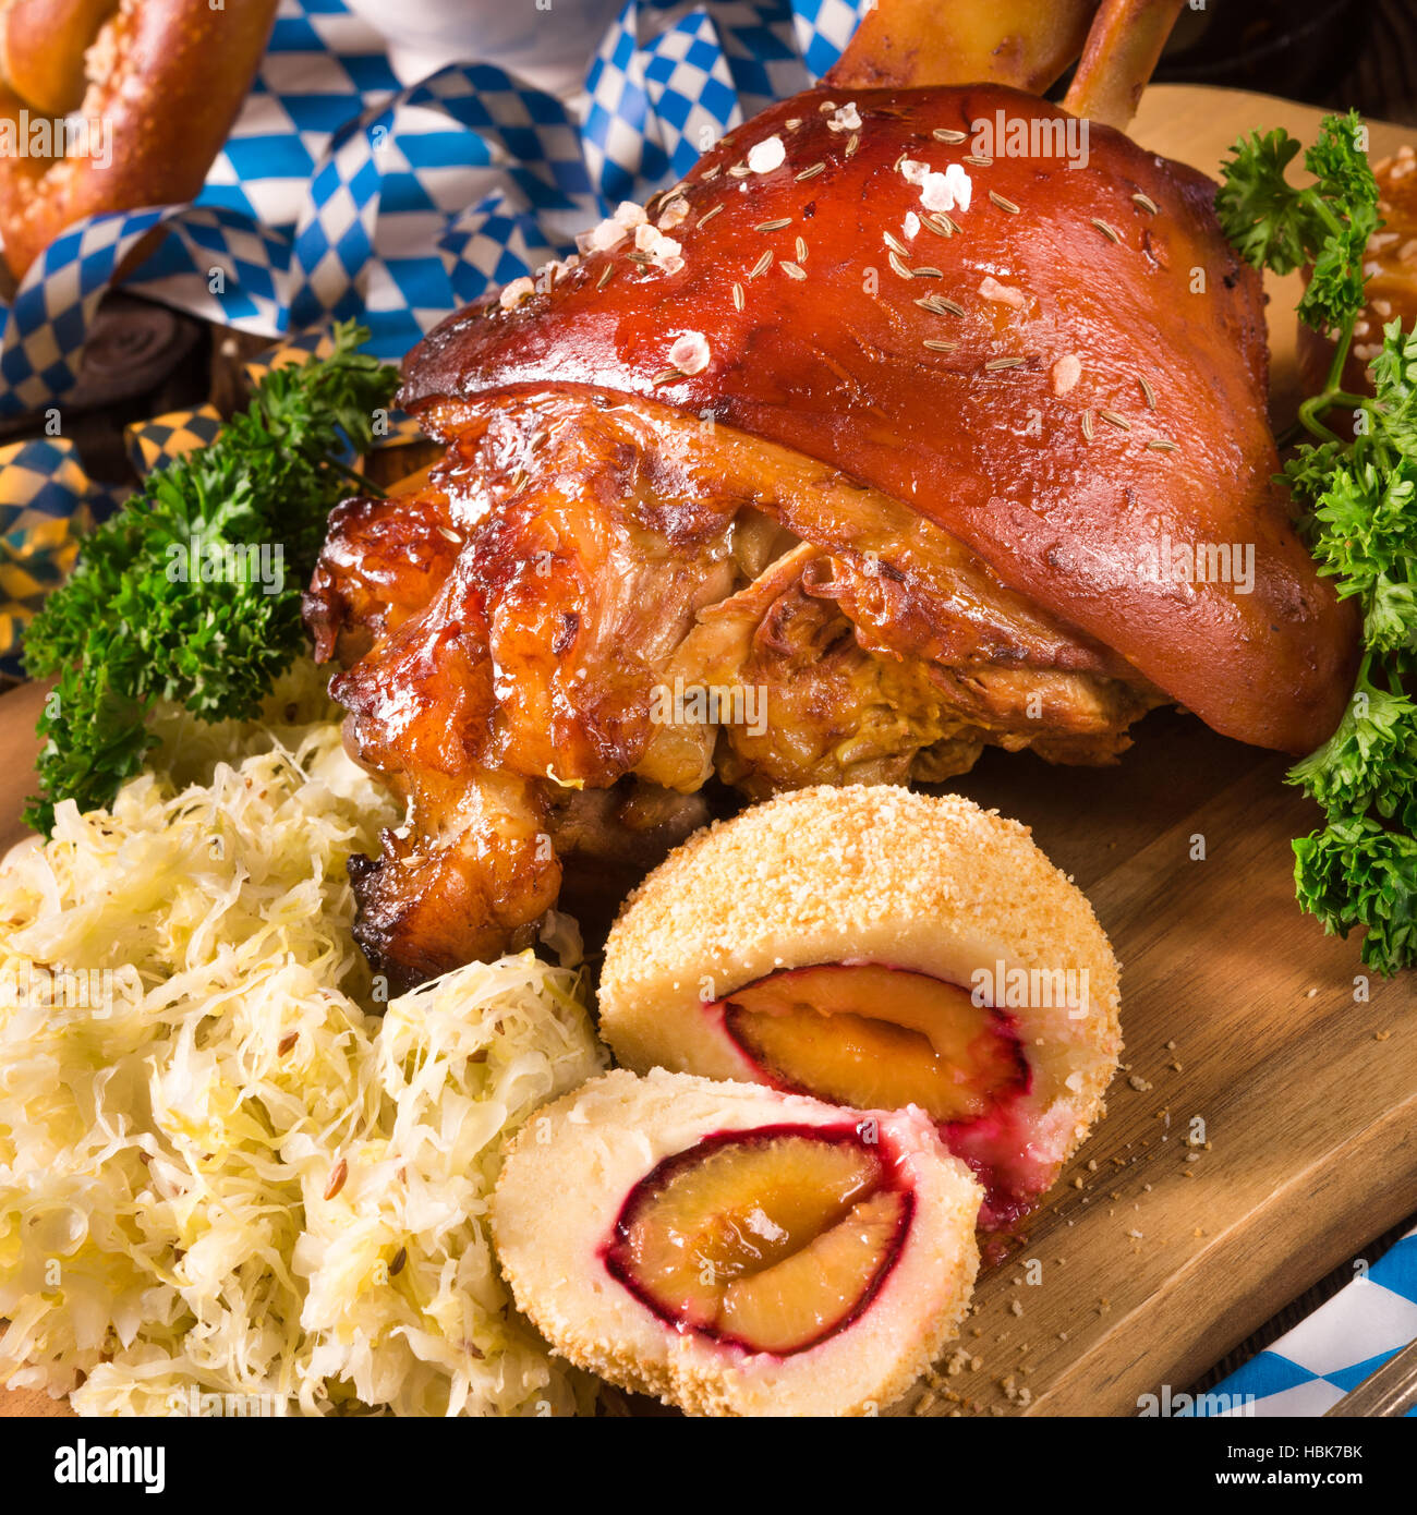
M62 804L0 867L0 1382L83 1413L585 1409L485 1218L502 1138L603 1067L577 976L524 953L383 1007L346 862L397 817L309 668L267 712L165 718L111 812Z

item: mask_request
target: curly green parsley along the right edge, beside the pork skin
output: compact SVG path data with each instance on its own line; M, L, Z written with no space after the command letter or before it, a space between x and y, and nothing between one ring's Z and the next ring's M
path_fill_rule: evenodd
M1297 524L1341 598L1362 609L1364 656L1343 721L1290 770L1325 812L1294 842L1300 906L1325 929L1362 927L1362 961L1382 974L1417 964L1417 335L1393 321L1373 362L1375 395L1350 394L1341 376L1362 314L1362 262L1379 227L1378 185L1356 112L1326 117L1305 153L1314 182L1288 183L1299 153L1284 130L1235 144L1217 211L1226 235L1256 268L1312 265L1299 315L1335 342L1325 388L1299 408L1303 442L1285 462ZM1325 412L1353 412L1353 439Z

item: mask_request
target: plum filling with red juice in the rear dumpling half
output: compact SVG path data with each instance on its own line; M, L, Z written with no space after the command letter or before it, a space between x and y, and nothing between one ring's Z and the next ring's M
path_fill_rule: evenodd
M873 962L788 968L712 1009L762 1079L856 1109L918 1104L988 1191L981 1224L1017 1220L1047 1186L1024 1173L1014 1106L1032 1071L1009 1015L927 973Z

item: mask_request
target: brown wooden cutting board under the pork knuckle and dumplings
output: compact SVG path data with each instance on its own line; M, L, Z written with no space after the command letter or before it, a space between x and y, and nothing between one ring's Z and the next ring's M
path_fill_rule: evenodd
M1214 173L1241 132L1285 126L1308 142L1318 118L1265 95L1158 86L1134 136ZM1375 126L1375 156L1400 138ZM1270 292L1282 412L1297 277ZM0 844L21 835L38 703L35 689L0 700ZM1108 1118L1026 1239L982 1274L970 1360L920 1410L1135 1413L1138 1395L1184 1391L1417 1210L1417 976L1373 980L1355 1003L1356 942L1294 906L1290 838L1317 812L1284 768L1158 711L1117 768L988 753L958 780L1031 824L1091 897L1123 962L1126 1053ZM0 1413L56 1409L14 1394Z

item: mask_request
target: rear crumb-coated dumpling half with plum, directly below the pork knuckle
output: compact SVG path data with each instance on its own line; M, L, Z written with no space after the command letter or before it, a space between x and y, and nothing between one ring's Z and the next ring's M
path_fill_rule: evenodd
M1028 830L959 795L802 789L691 836L605 950L617 1059L917 1106L1011 1224L1102 1114L1117 962Z

